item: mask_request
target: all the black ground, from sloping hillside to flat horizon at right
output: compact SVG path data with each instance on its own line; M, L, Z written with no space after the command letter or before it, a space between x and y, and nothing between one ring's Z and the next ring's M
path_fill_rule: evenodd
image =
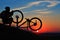
M60 33L42 33L36 35L28 31L0 24L0 39L60 40Z

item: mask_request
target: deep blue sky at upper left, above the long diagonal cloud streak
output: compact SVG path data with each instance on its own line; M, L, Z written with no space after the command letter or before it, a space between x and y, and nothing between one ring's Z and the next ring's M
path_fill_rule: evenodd
M35 1L35 0L34 0ZM11 8L21 7L26 5L29 2L33 2L33 0L0 0L0 9L5 6L10 6Z

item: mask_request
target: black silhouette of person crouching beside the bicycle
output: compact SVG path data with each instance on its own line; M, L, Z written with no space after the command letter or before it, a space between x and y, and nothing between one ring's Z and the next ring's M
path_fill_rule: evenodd
M11 26L11 23L13 21L12 15L13 11L10 12L10 7L5 7L5 10L1 12L1 18L4 24L9 24Z

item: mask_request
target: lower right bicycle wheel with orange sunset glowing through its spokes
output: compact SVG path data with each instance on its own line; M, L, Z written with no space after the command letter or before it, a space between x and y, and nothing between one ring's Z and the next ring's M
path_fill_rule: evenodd
M37 30L41 29L42 28L42 21L37 17L32 18L29 28L33 31L37 31Z

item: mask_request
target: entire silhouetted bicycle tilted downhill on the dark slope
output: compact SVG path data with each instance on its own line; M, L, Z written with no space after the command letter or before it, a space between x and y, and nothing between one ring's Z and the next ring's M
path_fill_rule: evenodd
M27 22L27 27L21 27L21 28L28 28L28 27L29 27L29 28L30 28L31 30L33 30L33 31L36 31L36 30L39 30L39 29L42 28L42 21L41 21L39 18L37 18L37 17L33 17L33 18L31 18L31 19L25 18L26 21L24 21L21 25L18 26L18 24L23 21L24 15L23 15L23 13L22 13L21 11L19 11L19 10L14 10L14 12L19 12L19 13L21 14L21 16L22 16L22 18L21 18L20 21L18 21L18 18L19 18L18 15L16 15L16 20L17 20L17 22L15 22L15 21L13 20L13 22L17 24L17 27L20 28L20 26L22 26L23 24L25 24L25 23ZM36 20L35 20L35 19L36 19ZM38 25L38 28L36 27L36 25L37 25L37 20L38 20L39 23L40 23L40 24ZM36 27L36 29L34 29L34 26Z

